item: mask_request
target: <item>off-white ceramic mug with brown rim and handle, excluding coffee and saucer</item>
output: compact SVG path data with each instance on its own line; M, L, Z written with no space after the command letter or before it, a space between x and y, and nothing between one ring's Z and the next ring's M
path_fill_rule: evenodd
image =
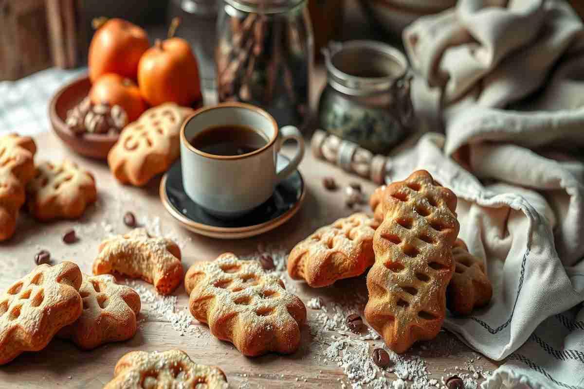
M214 155L195 148L189 139L224 125L245 125L266 139L262 148L234 155ZM296 153L276 171L276 157L284 141L297 142ZM244 103L222 103L201 108L180 128L180 163L186 194L211 215L237 218L269 199L276 185L296 171L304 156L304 138L298 128L278 128L266 111Z

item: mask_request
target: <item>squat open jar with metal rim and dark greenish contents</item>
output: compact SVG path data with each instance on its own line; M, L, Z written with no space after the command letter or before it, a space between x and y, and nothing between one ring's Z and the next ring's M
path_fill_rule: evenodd
M319 102L321 127L374 153L387 152L413 124L405 55L366 40L333 42L323 54L327 85Z

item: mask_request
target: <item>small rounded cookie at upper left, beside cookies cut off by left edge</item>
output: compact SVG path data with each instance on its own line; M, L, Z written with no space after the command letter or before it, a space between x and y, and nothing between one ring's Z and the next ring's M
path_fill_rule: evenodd
M77 219L98 198L93 174L64 160L43 162L27 186L29 212L39 220Z

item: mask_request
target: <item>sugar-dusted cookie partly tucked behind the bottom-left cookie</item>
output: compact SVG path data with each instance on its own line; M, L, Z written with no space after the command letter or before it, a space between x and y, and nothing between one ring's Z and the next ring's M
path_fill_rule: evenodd
M117 285L114 276L109 274L84 274L79 295L83 299L83 312L75 323L62 328L58 337L71 339L83 349L93 349L135 335L140 296L134 289Z

